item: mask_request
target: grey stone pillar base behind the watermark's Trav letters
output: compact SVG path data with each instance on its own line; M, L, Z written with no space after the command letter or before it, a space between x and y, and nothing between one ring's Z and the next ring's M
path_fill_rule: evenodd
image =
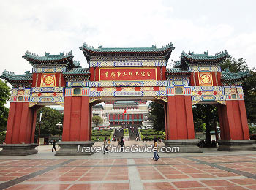
M57 143L61 148L56 152L56 156L84 156L95 153L91 150L94 141L64 141ZM78 145L80 145L79 150Z

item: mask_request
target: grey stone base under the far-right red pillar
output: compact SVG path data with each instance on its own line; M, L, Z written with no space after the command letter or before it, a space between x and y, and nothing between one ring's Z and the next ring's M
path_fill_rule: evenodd
M218 140L218 151L253 151L256 140Z

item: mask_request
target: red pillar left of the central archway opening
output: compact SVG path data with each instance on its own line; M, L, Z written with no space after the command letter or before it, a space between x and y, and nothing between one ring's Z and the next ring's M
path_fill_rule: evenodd
M91 140L89 97L65 97L63 141Z

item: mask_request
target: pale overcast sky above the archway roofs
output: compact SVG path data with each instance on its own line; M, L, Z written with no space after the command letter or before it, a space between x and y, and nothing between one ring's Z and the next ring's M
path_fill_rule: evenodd
M44 56L68 53L88 67L79 47L176 47L214 55L227 50L256 67L256 1L12 1L0 6L0 73L23 74L26 50Z

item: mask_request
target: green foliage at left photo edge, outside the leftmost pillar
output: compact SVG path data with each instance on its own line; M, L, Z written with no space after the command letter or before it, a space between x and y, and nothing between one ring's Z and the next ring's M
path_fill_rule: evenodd
M0 80L0 132L7 129L7 119L9 109L4 105L10 99L10 87L6 82Z

